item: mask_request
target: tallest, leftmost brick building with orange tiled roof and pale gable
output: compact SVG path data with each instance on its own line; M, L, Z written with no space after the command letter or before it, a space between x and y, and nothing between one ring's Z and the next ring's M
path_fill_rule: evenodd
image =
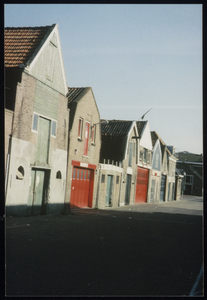
M58 25L5 28L4 49L6 213L60 212L69 111Z

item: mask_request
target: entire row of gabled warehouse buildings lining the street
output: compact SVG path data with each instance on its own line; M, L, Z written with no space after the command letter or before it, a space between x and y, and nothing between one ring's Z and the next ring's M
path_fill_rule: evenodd
M92 88L68 88L57 24L4 37L8 215L180 198L177 158L149 121L102 120Z

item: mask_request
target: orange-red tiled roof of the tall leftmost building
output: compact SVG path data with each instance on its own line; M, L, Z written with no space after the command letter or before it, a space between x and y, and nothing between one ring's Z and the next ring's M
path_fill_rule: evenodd
M4 30L4 65L26 64L52 26L6 27Z

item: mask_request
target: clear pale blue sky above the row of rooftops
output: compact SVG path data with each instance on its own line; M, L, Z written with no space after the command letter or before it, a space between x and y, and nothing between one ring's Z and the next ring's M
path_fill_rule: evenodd
M68 86L92 87L101 118L152 108L151 131L202 153L202 5L5 5L5 27L54 23Z

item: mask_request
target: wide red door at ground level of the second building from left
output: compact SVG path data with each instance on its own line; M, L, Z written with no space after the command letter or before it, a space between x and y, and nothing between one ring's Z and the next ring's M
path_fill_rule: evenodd
M70 206L91 207L92 201L90 189L93 188L93 170L73 167L73 178L71 185Z

